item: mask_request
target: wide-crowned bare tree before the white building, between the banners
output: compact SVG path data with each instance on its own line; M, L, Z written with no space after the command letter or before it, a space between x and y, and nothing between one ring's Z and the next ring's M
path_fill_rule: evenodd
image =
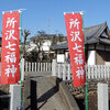
M42 62L44 56L47 56L47 58L50 58L53 46L57 44L57 42L65 41L65 38L66 37L63 34L57 34L57 35L46 34L44 31L37 31L37 34L31 37L31 41L33 41L33 43L36 44L34 52L35 51L37 52L37 61ZM48 52L48 54L45 55L43 51L43 44L48 41L51 42L51 45L50 45L51 51Z

